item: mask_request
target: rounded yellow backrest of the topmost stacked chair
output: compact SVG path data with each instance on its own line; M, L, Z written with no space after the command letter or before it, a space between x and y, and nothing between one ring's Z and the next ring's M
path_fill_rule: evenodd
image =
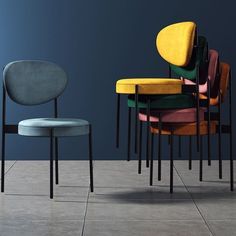
M193 51L196 24L180 22L163 28L156 39L161 57L176 66L187 66Z

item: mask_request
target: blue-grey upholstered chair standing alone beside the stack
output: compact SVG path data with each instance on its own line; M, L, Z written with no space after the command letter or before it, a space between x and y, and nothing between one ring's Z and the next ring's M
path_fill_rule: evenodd
M1 192L4 192L5 135L19 134L50 139L50 198L53 198L53 159L55 156L56 184L58 173L58 138L88 135L90 189L93 192L92 126L86 120L58 118L57 98L67 84L67 75L59 66L46 61L15 61L3 71L2 97L2 166ZM36 118L20 121L18 125L6 123L6 92L16 103L25 106L54 102L54 118ZM54 155L55 151L55 155Z

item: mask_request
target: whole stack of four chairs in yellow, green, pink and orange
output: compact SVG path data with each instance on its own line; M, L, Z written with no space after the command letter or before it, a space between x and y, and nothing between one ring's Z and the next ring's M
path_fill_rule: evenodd
M230 134L230 186L233 191L231 72L220 63L215 50L208 51L205 37L197 35L194 22L169 25L157 35L159 54L169 63L168 78L129 78L116 83L117 136L119 147L120 94L128 94L128 145L130 160L131 110L135 110L135 151L138 173L142 163L142 124L147 127L146 166L150 163L150 185L153 184L153 136L158 134L158 180L161 180L161 136L169 136L170 192L173 192L173 135L189 136L189 169L191 169L192 136L200 154L199 179L202 181L202 136L208 137L208 164L211 164L211 135L219 136L219 177L222 178L221 135ZM229 85L229 86L228 86ZM221 124L221 103L229 88L229 125ZM217 106L218 112L210 112ZM139 124L138 124L139 123ZM151 134L150 134L151 131Z

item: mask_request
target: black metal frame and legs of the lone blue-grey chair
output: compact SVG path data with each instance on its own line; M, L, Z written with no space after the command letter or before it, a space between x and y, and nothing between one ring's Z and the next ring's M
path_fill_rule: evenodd
M18 134L17 124L7 124L6 123L6 89L4 84L2 91L2 147L1 147L1 192L5 190L5 152L6 152L6 134ZM54 102L54 118L58 117L58 103L57 98L53 99ZM90 190L94 191L93 185L93 153L92 153L92 125L89 124L89 169L90 169ZM58 137L53 136L53 129L50 131L50 198L53 198L53 182L54 182L54 167L53 160L55 156L55 183L59 184L59 163L58 163ZM55 155L54 155L55 152Z

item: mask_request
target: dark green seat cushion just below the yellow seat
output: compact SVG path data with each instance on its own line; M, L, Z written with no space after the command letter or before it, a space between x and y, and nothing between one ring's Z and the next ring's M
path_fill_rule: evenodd
M139 96L138 107L147 108L147 96ZM192 95L160 95L151 96L151 109L182 109L195 107L195 99ZM128 97L128 107L135 107L134 96Z

